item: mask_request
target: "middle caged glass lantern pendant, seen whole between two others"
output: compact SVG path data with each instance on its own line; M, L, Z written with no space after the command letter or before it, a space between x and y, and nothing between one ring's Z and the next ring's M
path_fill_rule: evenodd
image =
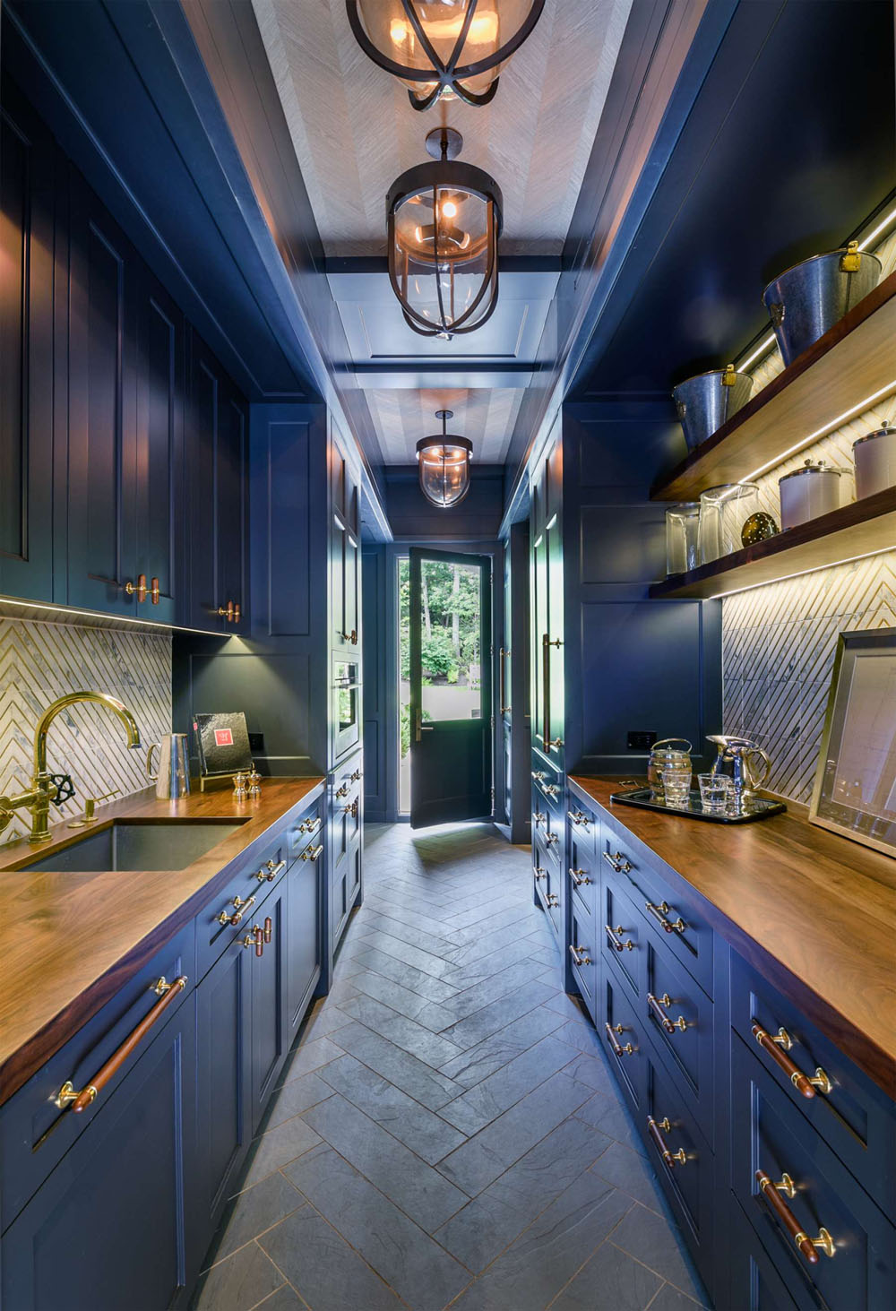
M407 169L386 195L392 290L409 328L445 341L481 328L498 304L500 187L457 161L462 144L451 127L430 132L435 163Z

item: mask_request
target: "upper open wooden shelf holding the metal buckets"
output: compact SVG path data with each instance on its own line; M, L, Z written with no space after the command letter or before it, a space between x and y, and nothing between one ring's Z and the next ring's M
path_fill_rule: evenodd
M696 501L737 482L892 384L896 391L896 273L884 278L824 337L702 442L652 492L654 501ZM886 395L886 392L884 392Z

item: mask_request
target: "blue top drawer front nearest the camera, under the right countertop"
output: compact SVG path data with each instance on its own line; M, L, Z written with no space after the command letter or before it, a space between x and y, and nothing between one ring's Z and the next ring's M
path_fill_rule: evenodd
M896 1106L734 952L731 1024L879 1206L896 1214ZM811 1084L800 1074L820 1082Z

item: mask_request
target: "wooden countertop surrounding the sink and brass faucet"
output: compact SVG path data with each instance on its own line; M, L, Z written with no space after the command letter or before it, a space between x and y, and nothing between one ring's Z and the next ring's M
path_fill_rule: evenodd
M229 788L157 801L153 789L103 806L89 829L51 829L52 842L0 848L0 1104L7 1101L231 877L234 860L274 836L278 821L312 801L324 779L266 779L259 797ZM29 873L113 819L246 821L186 869Z

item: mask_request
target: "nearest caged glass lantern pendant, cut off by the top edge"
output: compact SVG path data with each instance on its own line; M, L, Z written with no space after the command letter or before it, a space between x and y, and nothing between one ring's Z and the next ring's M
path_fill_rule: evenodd
M545 0L346 0L355 41L405 83L414 109L443 96L487 105L544 7Z

